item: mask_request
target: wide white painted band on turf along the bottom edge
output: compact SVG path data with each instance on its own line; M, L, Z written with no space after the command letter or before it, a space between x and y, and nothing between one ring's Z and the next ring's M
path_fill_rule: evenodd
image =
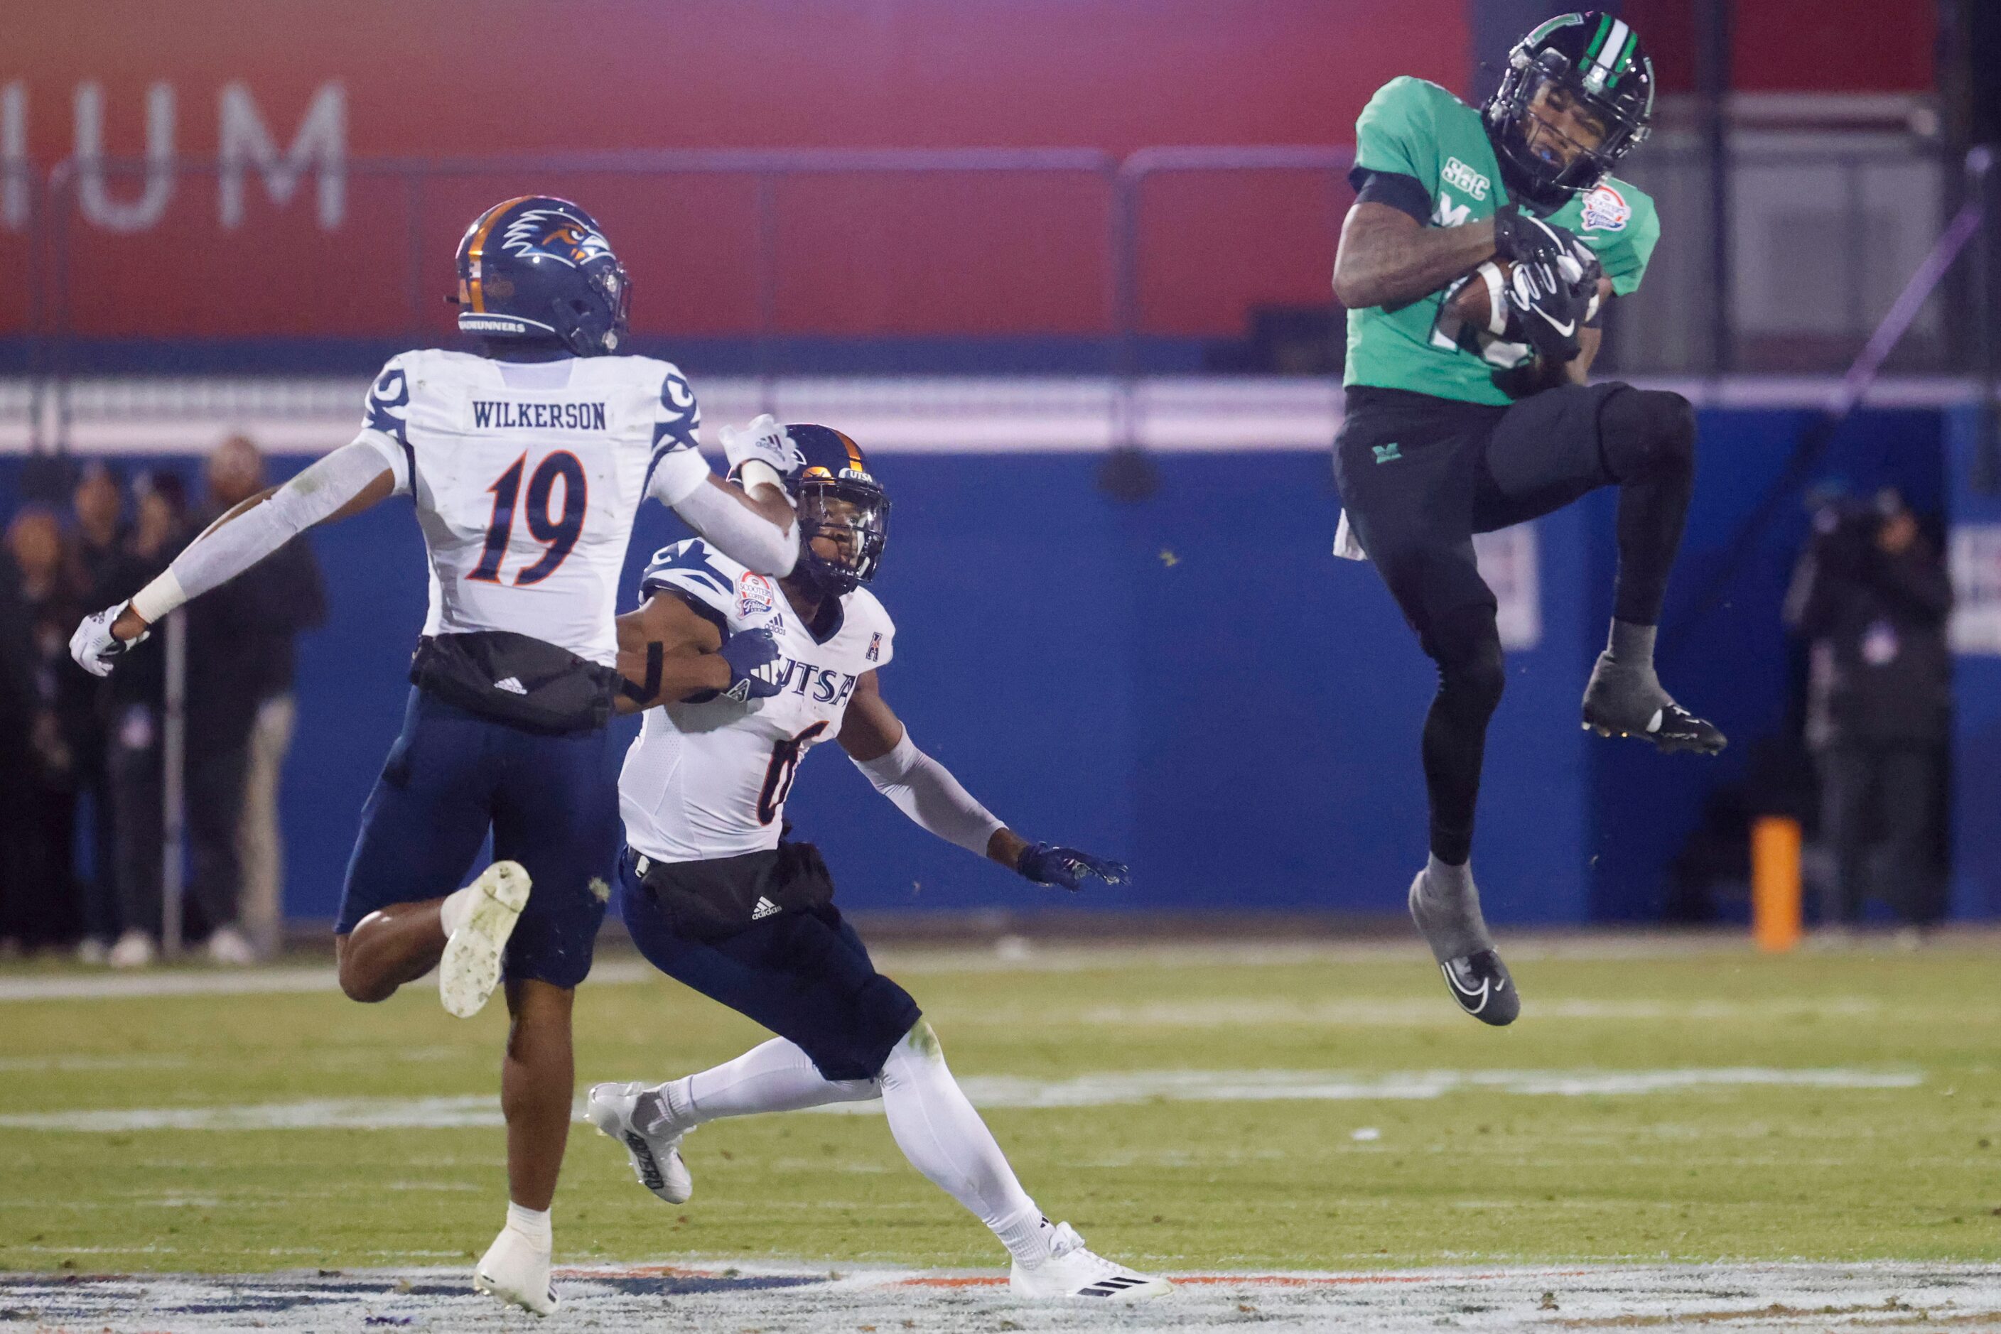
M1995 1328L2001 1274L1979 1264L1653 1264L1401 1272L1195 1272L1137 1306L1025 1308L994 1270L908 1270L682 1260L556 1272L546 1328L766 1330L1243 1328L1433 1334L1631 1326L1737 1334ZM382 1326L522 1330L518 1310L470 1292L464 1268L290 1274L0 1274L0 1306L42 1328L210 1330Z

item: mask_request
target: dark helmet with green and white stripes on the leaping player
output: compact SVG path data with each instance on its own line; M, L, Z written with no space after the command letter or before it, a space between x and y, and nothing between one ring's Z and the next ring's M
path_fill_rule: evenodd
M1577 108L1597 122L1597 142L1581 144L1563 134L1539 112L1551 104ZM1485 116L1509 192L1539 208L1561 208L1573 194L1593 190L1645 142L1653 120L1653 60L1639 34L1613 14L1559 14L1515 42ZM1555 144L1559 138L1575 150L1569 160Z

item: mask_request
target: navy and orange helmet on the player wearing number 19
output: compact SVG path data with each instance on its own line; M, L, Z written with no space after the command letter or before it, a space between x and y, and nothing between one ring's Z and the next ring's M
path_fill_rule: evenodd
M458 242L458 328L554 338L576 356L624 346L632 284L596 218L568 200L494 204Z

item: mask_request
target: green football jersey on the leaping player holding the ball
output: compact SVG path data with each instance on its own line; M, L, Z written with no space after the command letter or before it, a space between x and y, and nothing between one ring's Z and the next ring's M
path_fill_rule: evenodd
M1369 98L1355 122L1355 166L1415 178L1431 194L1431 226L1465 226L1507 202L1481 112L1421 78L1393 78ZM1549 220L1591 246L1619 296L1639 286L1661 238L1653 200L1611 176ZM1433 292L1403 310L1351 310L1343 384L1513 402L1495 386L1495 366L1479 350L1435 332L1443 296Z

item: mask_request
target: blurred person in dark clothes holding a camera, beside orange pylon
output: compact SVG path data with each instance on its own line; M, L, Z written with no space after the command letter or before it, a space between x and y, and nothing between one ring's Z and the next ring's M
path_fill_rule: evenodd
M1951 720L1953 588L1895 490L1829 498L1793 572L1787 620L1809 642L1807 744L1821 768L1833 918L1881 894L1907 928L1939 916L1937 818Z

